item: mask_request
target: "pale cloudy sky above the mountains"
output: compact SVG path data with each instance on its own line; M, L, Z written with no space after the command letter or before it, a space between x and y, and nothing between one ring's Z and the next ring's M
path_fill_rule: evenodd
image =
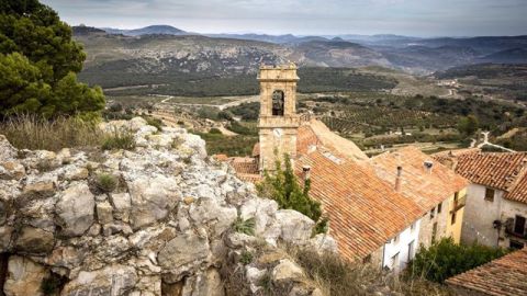
M199 33L527 34L527 0L41 0L66 22Z

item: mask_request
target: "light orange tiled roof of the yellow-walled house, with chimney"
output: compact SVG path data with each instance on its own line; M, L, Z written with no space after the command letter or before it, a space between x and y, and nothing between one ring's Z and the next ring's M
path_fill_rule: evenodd
M425 161L431 161L430 170L425 168ZM424 210L431 209L468 185L464 178L413 146L379 155L370 162L377 175L389 184L395 184L397 167L401 166L401 193L413 198Z

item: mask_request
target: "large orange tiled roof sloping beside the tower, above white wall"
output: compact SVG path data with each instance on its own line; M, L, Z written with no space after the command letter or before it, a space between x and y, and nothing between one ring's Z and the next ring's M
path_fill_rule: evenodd
M323 204L341 255L365 258L418 219L424 212L381 181L366 163L316 149L295 161L299 178L311 167L311 197Z

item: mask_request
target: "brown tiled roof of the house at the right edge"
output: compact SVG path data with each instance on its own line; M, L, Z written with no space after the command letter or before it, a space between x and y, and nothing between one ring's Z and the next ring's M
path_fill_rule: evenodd
M527 166L527 153L468 153L456 158L456 172L472 183L511 191Z

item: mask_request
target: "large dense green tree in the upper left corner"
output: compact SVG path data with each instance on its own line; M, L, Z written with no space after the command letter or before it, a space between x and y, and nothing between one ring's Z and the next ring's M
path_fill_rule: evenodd
M0 1L0 115L93 115L100 88L77 82L86 55L71 29L37 0Z

